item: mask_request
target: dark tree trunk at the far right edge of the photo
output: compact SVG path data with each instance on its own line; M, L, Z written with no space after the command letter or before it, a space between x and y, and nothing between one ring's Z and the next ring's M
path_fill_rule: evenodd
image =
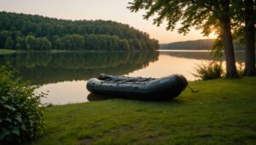
M246 64L243 75L256 75L253 0L245 0Z

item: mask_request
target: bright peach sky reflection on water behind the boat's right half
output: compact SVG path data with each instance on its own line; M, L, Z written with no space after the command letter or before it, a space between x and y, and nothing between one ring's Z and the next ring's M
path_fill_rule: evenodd
M236 52L236 60L244 62L244 55L244 52ZM149 64L143 70L136 70L128 75L158 78L165 75L182 74L189 81L195 81L198 79L193 75L195 67L208 60L212 60L212 56L207 52L160 52L158 61Z

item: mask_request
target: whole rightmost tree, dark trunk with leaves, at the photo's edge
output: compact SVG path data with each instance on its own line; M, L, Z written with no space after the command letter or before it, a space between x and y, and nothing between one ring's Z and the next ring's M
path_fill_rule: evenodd
M234 38L246 46L246 63L243 75L255 75L255 8L253 0L233 0Z

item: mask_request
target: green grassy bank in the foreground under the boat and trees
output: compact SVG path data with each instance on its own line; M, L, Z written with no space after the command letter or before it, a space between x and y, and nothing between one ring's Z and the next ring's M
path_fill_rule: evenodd
M112 99L54 106L32 144L255 144L256 77L195 81L166 102Z

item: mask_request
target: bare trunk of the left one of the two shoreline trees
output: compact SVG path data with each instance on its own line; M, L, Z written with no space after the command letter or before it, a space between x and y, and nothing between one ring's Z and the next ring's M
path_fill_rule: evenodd
M222 23L223 41L224 41L224 52L226 59L226 77L234 78L238 77L236 71L236 60L230 28L230 2L224 0L224 14L220 20Z

